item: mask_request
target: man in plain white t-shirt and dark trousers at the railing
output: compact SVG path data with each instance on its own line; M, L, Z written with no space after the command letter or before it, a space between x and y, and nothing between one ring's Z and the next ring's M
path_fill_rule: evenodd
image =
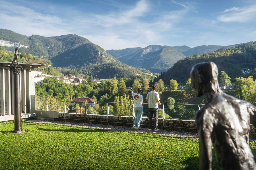
M154 131L159 131L158 129L158 105L161 105L158 92L156 92L156 85L152 86L152 91L148 92L146 101L148 102L149 110L149 131L152 131L152 118L154 114Z

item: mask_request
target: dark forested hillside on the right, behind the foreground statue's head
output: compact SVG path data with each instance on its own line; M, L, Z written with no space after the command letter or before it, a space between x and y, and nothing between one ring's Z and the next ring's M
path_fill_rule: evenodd
M218 66L219 76L221 71L225 71L233 81L235 77L242 76L243 68L256 68L256 41L238 44L226 50L220 49L208 54L195 54L176 62L173 67L168 69L154 81L160 78L168 83L171 79L183 83L189 78L193 65L199 62L213 61Z

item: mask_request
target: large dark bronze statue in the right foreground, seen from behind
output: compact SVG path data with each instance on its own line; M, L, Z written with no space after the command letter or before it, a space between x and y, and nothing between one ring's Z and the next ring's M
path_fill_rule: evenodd
M196 112L200 169L212 169L212 146L222 169L256 169L250 143L250 121L256 126L256 108L220 90L218 68L213 62L193 66L191 84L207 103Z

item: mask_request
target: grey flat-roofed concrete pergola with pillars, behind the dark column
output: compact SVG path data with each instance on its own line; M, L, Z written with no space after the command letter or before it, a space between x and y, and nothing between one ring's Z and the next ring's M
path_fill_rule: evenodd
M21 110L22 113L31 113L31 95L35 95L35 68L45 66L45 64L21 63L23 70L20 74L21 89ZM14 114L14 75L11 73L11 61L0 61L0 90L1 90L1 115L0 122L13 120ZM17 64L14 64L17 65ZM6 93L5 93L6 92Z

